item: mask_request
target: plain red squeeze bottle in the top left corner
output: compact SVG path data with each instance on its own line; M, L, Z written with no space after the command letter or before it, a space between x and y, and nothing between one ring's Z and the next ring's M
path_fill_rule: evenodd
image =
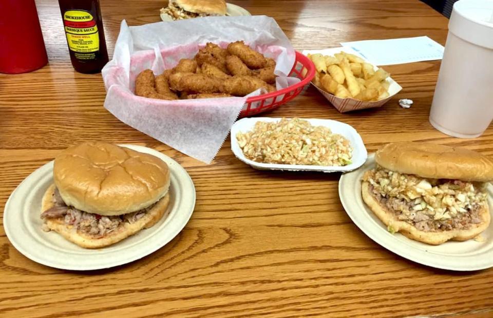
M0 0L0 73L26 73L48 63L34 0Z

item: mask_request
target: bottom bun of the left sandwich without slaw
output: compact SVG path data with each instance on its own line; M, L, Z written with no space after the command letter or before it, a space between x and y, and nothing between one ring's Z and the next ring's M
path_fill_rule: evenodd
M41 212L48 210L53 206L52 196L55 190L55 185L52 184L43 195L41 204ZM119 226L115 231L104 235L101 238L94 238L85 233L80 233L73 229L72 225L65 224L63 217L48 218L45 220L46 225L50 230L58 232L66 238L66 240L75 243L84 248L101 248L122 241L124 238L134 235L142 229L148 229L158 223L168 209L169 193L159 200L153 208L136 222L129 224L124 222L123 226Z

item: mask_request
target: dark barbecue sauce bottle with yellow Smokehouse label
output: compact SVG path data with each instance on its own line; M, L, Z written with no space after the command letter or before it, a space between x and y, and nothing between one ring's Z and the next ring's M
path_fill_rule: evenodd
M99 0L59 0L68 51L80 73L99 73L108 63Z

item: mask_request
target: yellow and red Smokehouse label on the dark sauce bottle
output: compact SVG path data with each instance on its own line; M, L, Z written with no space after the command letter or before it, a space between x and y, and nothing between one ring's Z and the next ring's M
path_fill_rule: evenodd
M94 17L87 11L68 10L63 14L63 24L67 35L68 47L76 52L79 59L93 59L99 51L99 32Z

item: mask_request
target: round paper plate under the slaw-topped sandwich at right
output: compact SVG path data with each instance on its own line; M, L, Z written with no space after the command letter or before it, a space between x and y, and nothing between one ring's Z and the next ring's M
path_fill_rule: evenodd
M431 267L471 271L493 267L493 223L481 234L484 242L448 241L438 246L413 241L387 231L387 227L367 208L361 195L361 179L365 171L375 167L374 154L358 170L344 174L339 180L339 197L354 224L373 241L408 260ZM488 185L488 203L493 207L493 186Z

